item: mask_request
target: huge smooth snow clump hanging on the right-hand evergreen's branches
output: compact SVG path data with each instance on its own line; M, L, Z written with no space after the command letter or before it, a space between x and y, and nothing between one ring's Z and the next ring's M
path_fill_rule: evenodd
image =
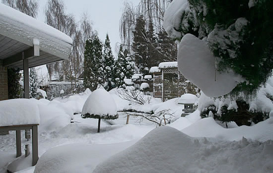
M186 34L182 38L177 59L179 70L185 78L200 87L209 97L228 94L242 82L242 77L231 70L222 73L215 71L216 57L205 42L192 34Z

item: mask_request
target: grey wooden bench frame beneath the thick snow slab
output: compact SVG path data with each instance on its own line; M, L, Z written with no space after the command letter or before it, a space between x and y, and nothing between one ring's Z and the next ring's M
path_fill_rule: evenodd
M22 155L21 151L21 130L31 130L32 131L32 166L36 165L38 162L38 125L16 125L16 126L0 126L0 131L16 131L16 157Z

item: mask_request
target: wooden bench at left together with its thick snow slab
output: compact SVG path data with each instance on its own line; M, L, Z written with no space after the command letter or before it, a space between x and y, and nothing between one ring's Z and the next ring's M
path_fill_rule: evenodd
M0 131L16 130L16 157L21 156L21 130L32 131L32 165L38 161L38 125L40 115L37 104L29 99L0 101Z

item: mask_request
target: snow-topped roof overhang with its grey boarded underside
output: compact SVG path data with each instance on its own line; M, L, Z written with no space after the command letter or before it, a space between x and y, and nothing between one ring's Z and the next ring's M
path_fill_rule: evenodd
M23 69L68 59L72 40L61 31L0 3L0 60Z

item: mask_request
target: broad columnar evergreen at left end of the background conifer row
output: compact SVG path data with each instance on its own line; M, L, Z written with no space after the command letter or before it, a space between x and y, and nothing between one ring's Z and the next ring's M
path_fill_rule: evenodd
M102 43L98 36L94 39L88 39L85 43L84 51L84 77L83 85L92 91L98 84L103 83L103 59L102 59Z

